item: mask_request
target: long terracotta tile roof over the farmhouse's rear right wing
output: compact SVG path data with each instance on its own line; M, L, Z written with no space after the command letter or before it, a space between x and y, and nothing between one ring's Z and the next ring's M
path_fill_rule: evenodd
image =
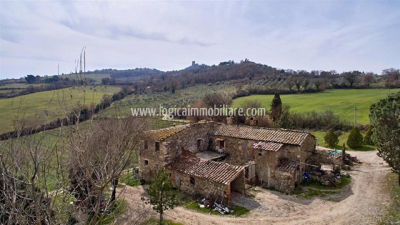
M242 125L219 125L215 126L215 129L210 131L210 134L300 145L304 138L310 133L292 129L263 128Z

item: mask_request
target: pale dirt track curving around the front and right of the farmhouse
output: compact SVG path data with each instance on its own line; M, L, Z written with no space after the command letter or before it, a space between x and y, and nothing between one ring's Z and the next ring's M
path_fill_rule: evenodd
M382 181L389 167L376 151L348 151L363 163L349 172L352 180L339 194L328 198L299 199L256 187L254 199L234 194L232 201L251 212L244 217L207 215L184 207L165 213L165 218L183 224L375 224L384 214L389 197L382 193ZM142 187L128 187L127 199L143 195ZM327 200L329 199L329 200ZM133 203L133 202L132 202Z

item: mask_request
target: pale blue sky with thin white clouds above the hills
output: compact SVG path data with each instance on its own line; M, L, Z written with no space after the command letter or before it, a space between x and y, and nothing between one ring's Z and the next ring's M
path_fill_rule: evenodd
M284 69L400 68L400 1L0 1L0 79L175 70L248 58Z

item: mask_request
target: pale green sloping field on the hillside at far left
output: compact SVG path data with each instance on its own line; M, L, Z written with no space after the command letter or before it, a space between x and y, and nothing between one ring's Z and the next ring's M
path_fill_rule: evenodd
M68 88L64 88L0 99L0 133L14 129L14 114L19 115L19 121L29 120L30 125L48 123L57 117L63 117L62 108L70 108L78 100L84 99L84 104L90 105L91 102L98 103L104 94L112 95L120 90L118 86L97 86L96 91L90 88L86 87L84 92L77 86L70 93Z

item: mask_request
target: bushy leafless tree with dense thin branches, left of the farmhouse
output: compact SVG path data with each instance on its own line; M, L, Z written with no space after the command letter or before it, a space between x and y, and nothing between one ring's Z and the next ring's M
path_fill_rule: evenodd
M97 214L100 209L114 204L118 177L132 160L142 127L142 120L128 117L100 119L81 129L69 128L71 191L91 223L103 216ZM110 185L111 196L105 201Z

